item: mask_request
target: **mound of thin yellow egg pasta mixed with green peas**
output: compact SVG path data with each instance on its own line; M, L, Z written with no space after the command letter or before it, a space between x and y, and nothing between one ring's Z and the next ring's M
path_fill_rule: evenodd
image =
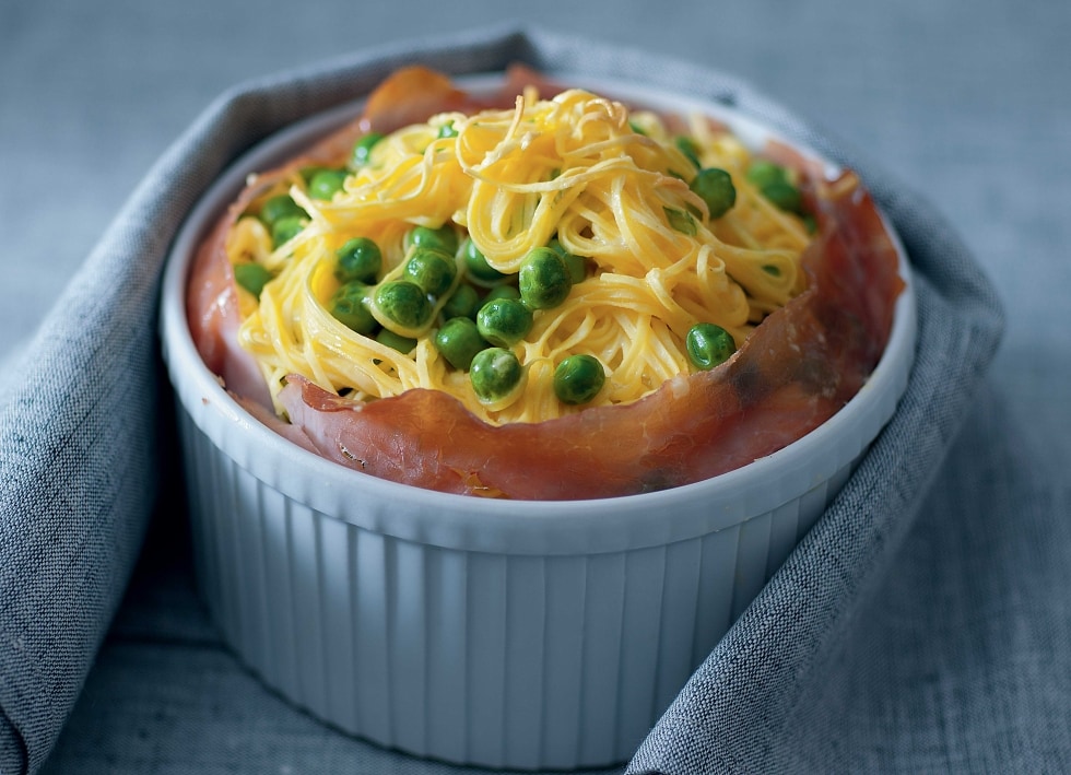
M728 130L696 117L686 131L681 142L657 114L585 90L540 98L529 89L513 109L443 113L366 138L367 160L295 174L232 228L232 263L271 275L259 294L242 294L239 342L273 397L290 374L366 401L426 388L492 424L636 401L699 368L687 344L697 324L739 347L807 285L805 214L766 196L752 152ZM695 184L699 169L731 179L722 214ZM267 200L285 197L297 214L269 222ZM414 269L421 228L443 240L421 265L440 280ZM374 243L379 266L353 279L340 256L358 237ZM526 266L549 249L567 291L536 303L526 272L544 270ZM345 315L343 292L358 297ZM475 306L460 309L462 296ZM519 336L499 341L483 326L495 297L522 318ZM489 396L475 357L445 354L438 334L454 316L475 321L467 326L480 333L476 349L511 353L522 378ZM605 376L582 404L555 386L574 355L597 359Z

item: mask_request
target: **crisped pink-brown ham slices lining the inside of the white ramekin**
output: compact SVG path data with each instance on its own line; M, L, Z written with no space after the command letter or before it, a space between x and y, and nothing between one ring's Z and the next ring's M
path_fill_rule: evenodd
M344 130L341 141L329 139L328 146L348 146L372 127L390 129L459 105L475 107L426 71L404 78L410 79L404 89L388 81L358 126ZM517 79L511 81L503 94L516 85ZM422 83L428 91L415 102L419 115L405 113L402 105ZM314 149L295 164L316 153ZM858 392L884 351L903 287L896 249L855 175L845 173L833 181L810 175L807 188L822 235L804 258L808 291L768 316L732 359L713 371L672 379L635 403L502 426L482 422L438 391L410 390L361 403L292 375L280 395L292 423L284 432L327 458L376 477L517 500L649 492L708 479L769 455L817 427ZM252 196L243 195L202 247L189 315L209 367L233 391L260 398L263 386L250 387L245 378L255 371L248 356L232 343L236 307L222 251L226 224Z

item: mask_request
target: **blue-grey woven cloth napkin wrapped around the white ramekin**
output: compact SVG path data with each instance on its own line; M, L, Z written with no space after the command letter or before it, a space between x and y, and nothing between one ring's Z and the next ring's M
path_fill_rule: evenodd
M34 772L51 750L165 475L156 295L185 214L251 144L366 94L413 61L451 73L521 61L674 91L688 84L697 96L731 104L859 169L903 236L917 272L920 338L901 410L629 772L786 764L795 714L835 676L854 612L887 572L963 420L999 338L999 305L925 200L739 80L542 30L492 28L393 45L222 95L151 169L8 369L0 386L0 772Z

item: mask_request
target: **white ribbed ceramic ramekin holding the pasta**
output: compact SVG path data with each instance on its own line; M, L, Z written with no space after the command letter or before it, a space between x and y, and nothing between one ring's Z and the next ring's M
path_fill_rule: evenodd
M723 107L601 85L648 105L702 108L745 141L767 137ZM382 481L247 414L201 362L184 304L197 244L246 174L354 110L314 117L242 158L172 250L162 336L202 595L267 684L345 732L493 767L624 761L895 411L915 340L903 253L908 286L866 387L820 428L745 468L584 502L499 502Z

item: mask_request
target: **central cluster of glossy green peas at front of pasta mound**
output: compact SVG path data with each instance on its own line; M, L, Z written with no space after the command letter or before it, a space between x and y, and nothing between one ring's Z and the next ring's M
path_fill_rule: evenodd
M342 245L336 254L340 286L330 301L331 314L357 333L408 353L416 344L408 334L426 329L442 301L433 336L439 354L468 372L480 400L494 403L513 395L523 368L511 348L531 330L536 310L561 305L584 280L584 259L554 242L529 251L510 277L491 267L475 243L459 239L450 225L415 226L405 243L401 272L378 284L382 254L376 243L354 237ZM596 357L575 354L557 364L553 384L562 402L582 404L604 381Z

